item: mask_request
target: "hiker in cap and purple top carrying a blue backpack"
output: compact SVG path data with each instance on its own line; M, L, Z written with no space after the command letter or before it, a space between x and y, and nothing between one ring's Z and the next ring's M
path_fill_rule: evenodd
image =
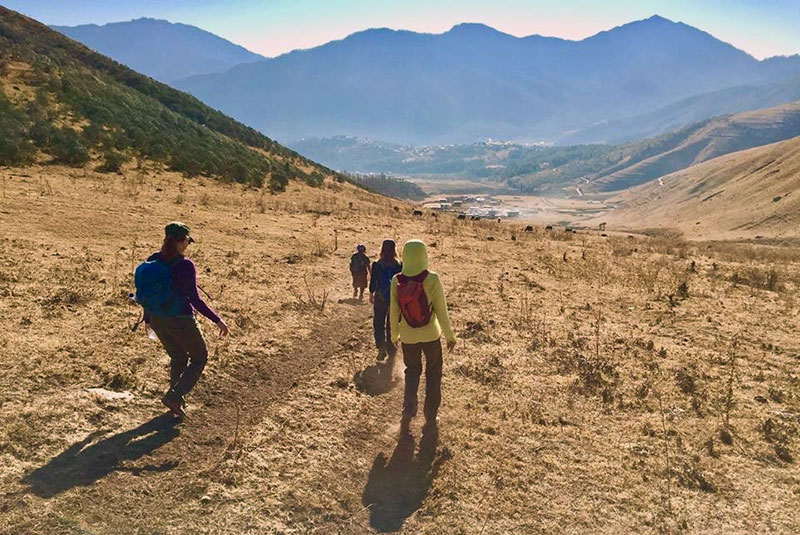
M183 396L194 387L208 360L208 349L194 311L214 322L220 334L228 326L197 293L194 262L183 256L194 239L189 227L173 221L164 228L161 250L136 268L136 301L170 357L170 388L161 402L177 417L185 416Z

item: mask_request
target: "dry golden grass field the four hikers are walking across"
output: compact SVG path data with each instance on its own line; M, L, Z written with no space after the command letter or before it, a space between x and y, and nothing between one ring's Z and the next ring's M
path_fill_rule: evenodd
M175 424L128 300L182 219L210 362ZM420 237L459 344L399 440L347 259ZM0 170L0 533L800 531L800 252L413 218L326 183ZM103 388L119 395L97 393Z

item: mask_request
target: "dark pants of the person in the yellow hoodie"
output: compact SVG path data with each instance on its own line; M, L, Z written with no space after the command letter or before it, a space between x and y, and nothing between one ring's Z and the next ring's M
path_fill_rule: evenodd
M422 375L422 355L425 354L425 412L426 420L434 420L442 401L442 343L440 340L403 344L403 363L406 365L406 391L403 414L417 414L417 390Z

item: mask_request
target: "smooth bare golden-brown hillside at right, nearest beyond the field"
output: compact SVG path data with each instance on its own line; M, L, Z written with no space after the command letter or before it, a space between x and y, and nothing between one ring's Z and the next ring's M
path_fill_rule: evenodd
M800 237L800 137L736 152L621 194L604 219L691 238Z

